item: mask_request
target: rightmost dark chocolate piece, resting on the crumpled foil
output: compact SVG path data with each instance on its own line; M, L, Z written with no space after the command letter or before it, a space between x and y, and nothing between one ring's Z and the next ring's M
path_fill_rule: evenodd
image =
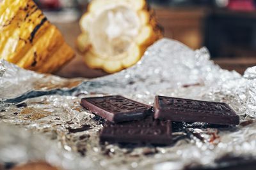
M155 97L154 118L172 120L173 122L239 124L239 117L228 104L164 96Z

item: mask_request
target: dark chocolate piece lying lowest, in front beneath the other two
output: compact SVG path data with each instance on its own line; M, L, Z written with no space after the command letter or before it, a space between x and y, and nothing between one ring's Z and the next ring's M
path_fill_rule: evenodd
M172 143L172 122L153 117L118 124L107 122L100 133L100 141L169 145Z

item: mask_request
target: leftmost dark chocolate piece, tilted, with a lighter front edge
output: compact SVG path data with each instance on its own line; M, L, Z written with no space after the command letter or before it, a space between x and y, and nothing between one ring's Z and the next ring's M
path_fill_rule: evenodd
M82 99L81 104L111 122L140 120L152 113L150 106L122 96L89 97Z

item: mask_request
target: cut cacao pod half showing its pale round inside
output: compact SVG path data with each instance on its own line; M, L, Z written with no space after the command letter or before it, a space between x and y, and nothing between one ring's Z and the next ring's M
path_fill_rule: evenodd
M107 73L130 67L162 37L145 0L94 0L80 20L77 48L86 64Z

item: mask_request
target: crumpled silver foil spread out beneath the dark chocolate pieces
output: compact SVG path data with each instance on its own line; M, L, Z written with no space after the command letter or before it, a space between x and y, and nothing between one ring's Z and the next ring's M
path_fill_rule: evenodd
M193 51L161 39L136 66L92 80L38 74L4 60L3 65L0 164L45 160L67 170L179 170L218 167L227 155L256 159L256 68L248 68L243 76L223 70L209 60L206 48ZM147 104L155 95L225 102L241 124L177 124L172 146L100 144L105 120L81 107L80 101L110 94Z

